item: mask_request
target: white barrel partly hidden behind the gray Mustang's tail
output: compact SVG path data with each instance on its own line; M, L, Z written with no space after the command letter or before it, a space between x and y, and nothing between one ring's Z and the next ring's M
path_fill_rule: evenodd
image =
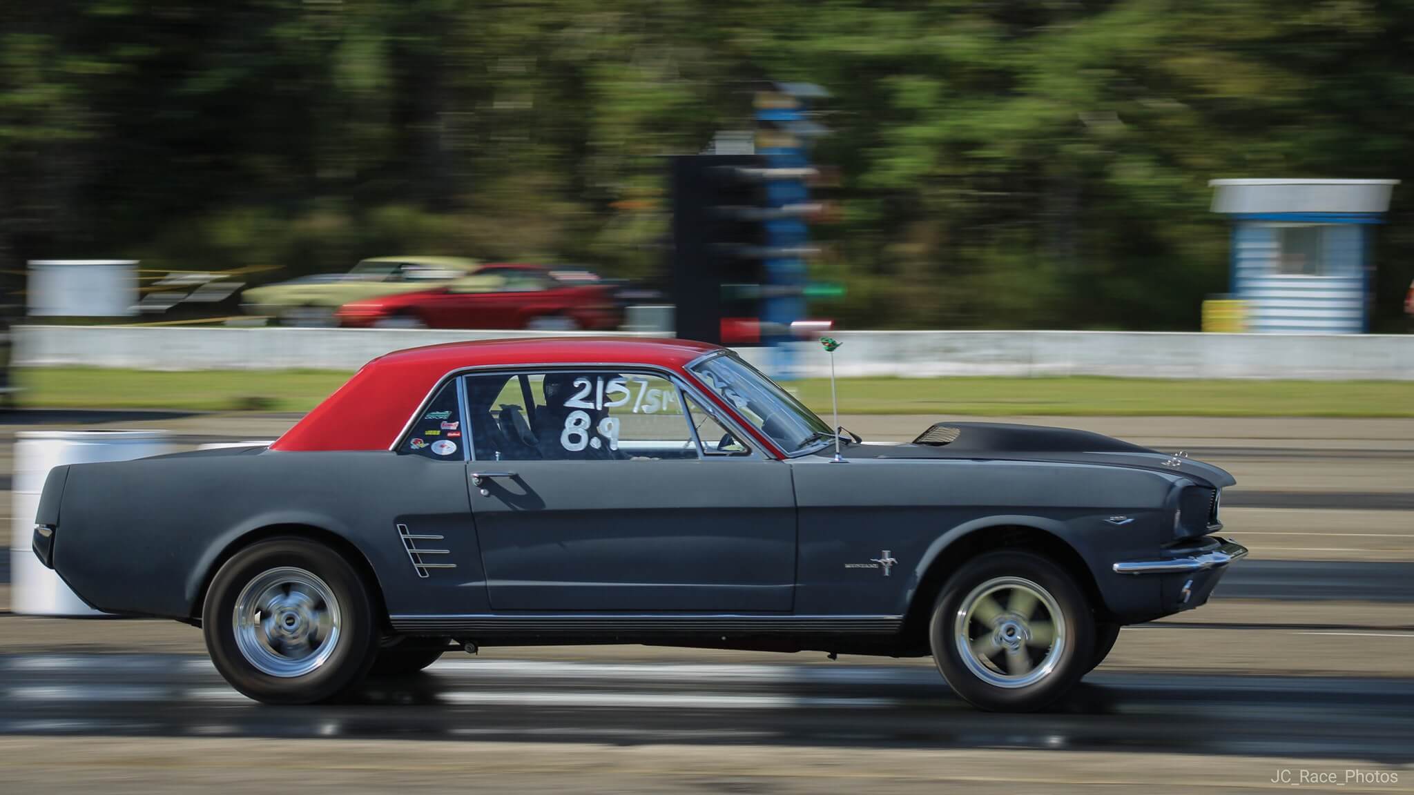
M83 604L34 556L34 515L49 470L62 464L129 461L173 453L165 430L23 430L14 434L10 608L25 615L103 615ZM61 528L62 529L62 518Z

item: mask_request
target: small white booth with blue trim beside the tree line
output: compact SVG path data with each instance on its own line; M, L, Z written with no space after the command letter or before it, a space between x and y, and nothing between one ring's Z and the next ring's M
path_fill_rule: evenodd
M1398 180L1213 180L1213 212L1232 231L1233 298L1246 330L1360 334L1370 259Z

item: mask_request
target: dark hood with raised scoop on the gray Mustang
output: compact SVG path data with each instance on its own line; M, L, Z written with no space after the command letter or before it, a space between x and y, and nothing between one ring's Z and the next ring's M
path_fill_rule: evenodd
M833 453L833 450L830 451ZM1215 488L1237 482L1227 471L1087 430L1012 423L937 423L909 443L850 444L846 458L987 458L1135 467L1184 475Z

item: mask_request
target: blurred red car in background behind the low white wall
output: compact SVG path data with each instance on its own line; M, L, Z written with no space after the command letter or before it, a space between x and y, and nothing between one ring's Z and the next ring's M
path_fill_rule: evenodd
M380 296L339 307L339 325L403 328L618 328L614 287L584 270L539 265L488 265L477 273L416 293Z

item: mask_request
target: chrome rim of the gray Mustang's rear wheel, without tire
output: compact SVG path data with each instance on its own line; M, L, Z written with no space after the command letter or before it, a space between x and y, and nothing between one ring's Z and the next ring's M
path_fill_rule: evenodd
M304 676L339 642L339 603L304 569L270 569L236 597L232 627L242 656L270 676Z

